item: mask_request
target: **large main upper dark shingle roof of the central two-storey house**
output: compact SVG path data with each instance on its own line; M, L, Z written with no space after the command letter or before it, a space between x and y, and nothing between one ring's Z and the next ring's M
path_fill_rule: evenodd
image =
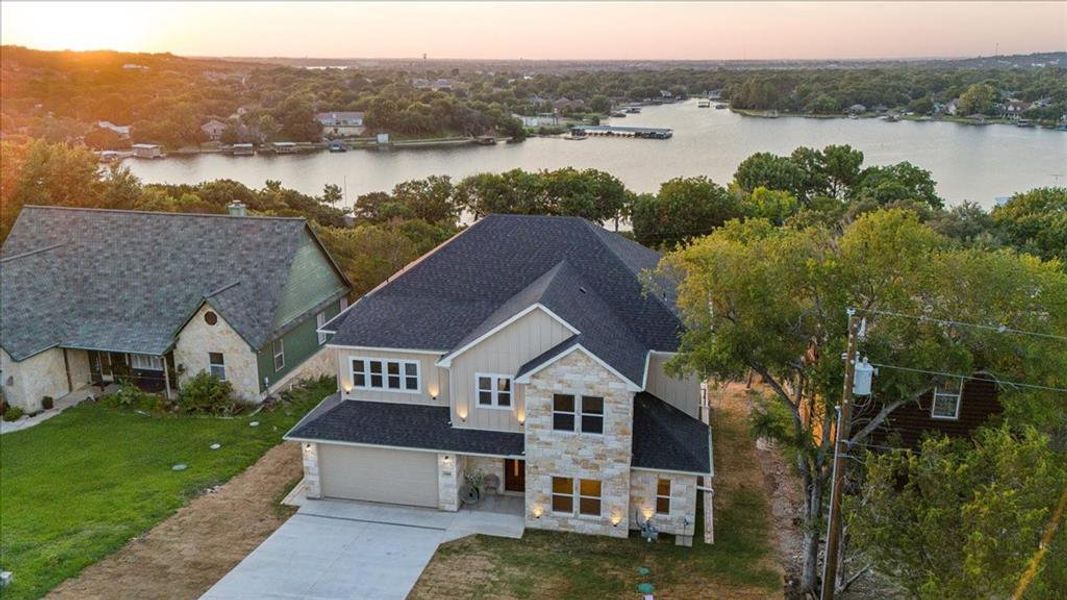
M678 348L682 322L644 294L659 254L584 219L492 215L338 317L334 344L449 352L540 302L636 383L649 350Z

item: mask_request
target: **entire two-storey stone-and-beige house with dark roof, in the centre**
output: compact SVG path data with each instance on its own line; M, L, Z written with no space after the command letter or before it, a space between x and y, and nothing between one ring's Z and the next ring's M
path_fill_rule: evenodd
M333 334L337 394L286 439L308 496L457 510L494 475L527 527L690 544L711 487L702 385L659 255L570 217L481 219L364 296ZM703 479L703 483L701 483ZM703 486L703 488L701 488Z

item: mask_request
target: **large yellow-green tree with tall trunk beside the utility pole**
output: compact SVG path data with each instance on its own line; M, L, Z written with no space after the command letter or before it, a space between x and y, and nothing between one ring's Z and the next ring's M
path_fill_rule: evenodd
M669 254L660 268L681 279L678 303L687 325L670 367L721 380L754 372L785 415L784 426L762 419L758 429L791 452L806 490L802 590L815 587L825 528L847 307L1067 333L1067 275L1054 265L1006 251L953 250L902 209L862 215L841 234L734 221ZM1005 379L1067 385L1067 352L1049 340L863 316L861 351L872 362L953 374L985 368ZM855 422L849 444L862 443L938 381L882 369L871 412Z

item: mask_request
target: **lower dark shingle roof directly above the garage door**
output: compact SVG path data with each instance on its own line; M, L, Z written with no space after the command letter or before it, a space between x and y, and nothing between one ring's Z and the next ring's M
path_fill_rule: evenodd
M337 395L288 433L291 440L320 440L498 456L522 456L523 433L459 429L448 407L340 400Z

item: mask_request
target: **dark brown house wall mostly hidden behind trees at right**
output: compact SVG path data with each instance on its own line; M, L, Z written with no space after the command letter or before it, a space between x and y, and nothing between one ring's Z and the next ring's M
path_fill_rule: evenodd
M871 441L914 448L925 433L968 437L1002 410L992 379L981 374L966 381L954 379L891 412L885 424L872 432ZM856 423L862 425L863 416L859 414Z

